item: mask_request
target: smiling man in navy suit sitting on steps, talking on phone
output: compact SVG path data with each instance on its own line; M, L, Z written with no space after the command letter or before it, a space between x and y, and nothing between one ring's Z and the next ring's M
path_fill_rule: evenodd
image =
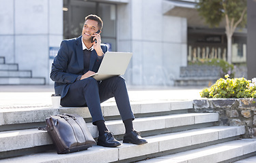
M96 15L85 18L82 35L63 40L53 61L51 79L55 92L61 94L61 106L89 108L92 122L98 127L98 145L117 147L121 145L104 123L100 103L115 97L117 108L124 122L126 133L124 143L144 144L147 141L133 129L134 115L122 77L111 77L97 82L89 77L98 71L107 47L101 44L100 33L103 22ZM92 39L92 40L91 40Z

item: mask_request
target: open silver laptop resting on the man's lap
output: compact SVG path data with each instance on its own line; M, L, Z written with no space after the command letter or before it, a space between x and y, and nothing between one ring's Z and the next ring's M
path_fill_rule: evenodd
M94 77L97 81L101 81L109 77L124 75L130 58L132 58L132 53L130 52L106 52L98 72L89 77Z

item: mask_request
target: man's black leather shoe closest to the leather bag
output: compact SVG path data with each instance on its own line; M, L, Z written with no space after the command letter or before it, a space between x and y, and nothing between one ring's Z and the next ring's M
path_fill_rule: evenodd
M113 137L111 132L106 132L98 137L97 145L101 145L103 147L117 147L118 145L121 145L121 143Z

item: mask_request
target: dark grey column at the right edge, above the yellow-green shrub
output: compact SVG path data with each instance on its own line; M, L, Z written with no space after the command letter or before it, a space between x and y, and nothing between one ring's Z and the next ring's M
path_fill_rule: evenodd
M256 77L256 1L247 0L247 78Z

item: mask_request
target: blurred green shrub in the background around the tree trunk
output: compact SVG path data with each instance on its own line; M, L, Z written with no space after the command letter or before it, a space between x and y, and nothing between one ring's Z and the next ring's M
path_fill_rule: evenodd
M234 77L233 72L233 65L229 64L223 59L199 59L196 61L188 62L188 65L210 65L210 66L216 66L221 67L220 75L221 77L225 77L226 74L228 74L231 78Z

